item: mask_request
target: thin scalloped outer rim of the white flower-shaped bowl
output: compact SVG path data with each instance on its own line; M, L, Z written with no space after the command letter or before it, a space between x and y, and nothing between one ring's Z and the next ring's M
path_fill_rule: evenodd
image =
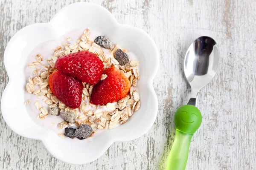
M32 26L40 26L40 25L50 25L52 23L55 22L55 20L58 20L58 16L63 12L65 11L67 8L76 8L76 6L81 6L81 5L86 5L86 6L92 6L93 8L98 8L99 10L102 10L104 11L106 14L109 15L109 17L111 18L112 22L114 24L116 24L117 27L125 27L125 28L130 28L130 29L134 29L136 30L137 32L139 32L140 34L144 34L144 36L146 36L148 38L148 40L150 41L150 44L152 45L152 48L153 50L155 51L155 66L154 68L151 68L153 71L152 71L152 75L151 77L148 79L147 81L147 86L150 90L150 92L152 93L153 95L153 102L156 104L156 108L154 109L154 111L152 111L152 119L151 119L151 122L148 122L148 126L147 128L143 129L143 130L139 130L136 134L134 134L133 136L122 136L120 138L111 138L110 140L108 140L108 142L106 142L105 146L101 149L101 152L99 152L98 155L94 156L91 160L88 160L88 161L84 161L84 163L81 163L81 162L78 162L78 163L74 163L74 162L69 162L67 160L63 160L61 158L59 158L58 156L58 153L54 152L53 150L50 149L50 146L49 146L49 142L47 142L47 138L45 137L45 135L42 135L42 136L29 136L29 135L24 135L23 133L21 133L20 131L17 130L17 128L15 127L15 125L13 125L9 120L8 118L6 118L6 112L8 112L5 108L5 98L6 98L6 95L7 95L7 92L9 91L9 84L10 82L12 81L12 77L9 76L9 65L6 64L6 58L8 57L8 51L11 50L11 47L12 47L12 44L13 42L15 41L16 37L22 32L22 30L24 29L27 29L29 27L32 27ZM155 42L152 40L152 38L143 30L141 30L140 28L137 28L137 27L134 27L134 26L128 26L128 25L125 25L125 24L120 24L117 22L116 18L111 14L110 11L108 11L106 8L102 7L102 6L99 6L97 4L94 4L94 3L87 3L87 2L80 2L80 3L73 3L73 4L70 4L70 5L67 5L65 6L64 8L61 8L60 11L58 11L54 17L48 22L48 23L34 23L34 24L31 24L29 26L25 26L24 28L20 29L19 31L17 31L17 33L15 33L15 35L9 40L7 46L6 46L6 49L5 49L5 52L4 52L4 65L5 65L5 68L6 68L6 72L7 72L7 75L9 77L9 82L7 83L6 85L6 88L4 89L3 91L3 95L2 95L2 98L1 98L1 110L2 110L2 115L3 115L3 119L5 120L6 124L17 134L19 134L20 136L23 136L23 137L27 137L27 138L30 138L30 139L37 139L37 140L41 140L44 144L44 146L47 148L47 150L49 151L49 153L51 153L55 158L61 160L61 161L64 161L64 162L67 162L67 163L70 163L70 164L86 164L86 163L89 163L91 161L94 161L96 159L98 159L100 156L102 156L102 154L105 153L105 151L108 149L108 147L111 146L111 144L113 144L113 142L125 142L125 141L131 141L131 140L134 140L134 139L137 139L139 138L140 136L143 136L151 127L152 125L154 124L155 122L155 119L157 117L157 112L158 112L158 101L157 101L157 96L155 94L155 91L154 91L154 88L153 88L153 80L154 80L154 77L156 76L157 74L157 71L158 71L158 68L159 68L159 62L160 62L160 57L159 57L159 52L157 50L157 45L155 44Z

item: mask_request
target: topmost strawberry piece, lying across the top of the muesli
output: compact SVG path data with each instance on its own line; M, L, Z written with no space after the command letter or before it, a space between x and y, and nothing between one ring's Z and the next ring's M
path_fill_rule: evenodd
M100 80L104 65L96 54L90 51L79 51L59 57L55 62L55 68L82 82L95 85Z

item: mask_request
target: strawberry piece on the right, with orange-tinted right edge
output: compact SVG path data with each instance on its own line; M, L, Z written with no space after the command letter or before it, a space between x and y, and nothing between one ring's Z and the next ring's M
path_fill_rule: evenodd
M125 97L130 91L129 79L116 67L103 71L108 77L93 88L90 102L94 105L113 103Z

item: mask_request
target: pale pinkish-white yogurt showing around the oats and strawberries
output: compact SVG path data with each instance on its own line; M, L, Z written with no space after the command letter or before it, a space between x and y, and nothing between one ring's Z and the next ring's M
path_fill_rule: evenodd
M51 40L51 41L41 43L35 49L33 49L32 52L29 54L27 61L26 61L26 65L29 65L29 63L35 62L36 61L35 55L37 55L37 54L41 54L44 57L44 60L42 61L42 63L48 65L47 58L53 56L54 49L57 46L62 46L64 48L64 46L63 46L64 42L67 42L69 44L75 44L76 40L81 38L84 30L85 30L85 28L78 28L76 30L68 32L67 34L64 34L62 37L60 37L56 40ZM90 30L91 40L95 40L95 38L100 35L102 35L100 32ZM71 40L67 41L66 40L67 37L70 37ZM122 48L125 48L125 47L122 47ZM105 52L107 57L113 58L113 55L110 53L110 50L104 49L104 48L102 48L102 49ZM131 60L137 60L137 57L131 51L128 51L126 54L128 54L131 57ZM138 67L138 69L139 69L139 67ZM24 71L25 71L26 79L28 79L29 77L35 77L35 75L32 73L33 70L35 70L35 68L29 68L29 67L25 68ZM40 87L35 86L35 89L37 89L37 88L40 88ZM45 119L38 118L38 115L40 112L36 109L36 107L34 105L37 100L40 102L41 106L44 106L47 109L49 108L48 105L44 101L42 101L43 98L46 98L46 97L41 96L39 98L35 94L29 94L27 91L25 92L25 101L29 100L29 99L31 101L30 105L26 105L26 109L29 113L29 116L36 124L38 124L44 128L51 129L51 130L55 131L56 133L64 133L64 129L59 129L57 127L57 124L59 122L63 121L61 116L52 116L51 114L49 114L48 117L46 117ZM88 99L86 99L86 100L87 100L86 101L87 108L90 110L96 110L96 108L93 108L89 105ZM115 105L115 104L116 104L116 102L113 103L113 105ZM100 106L98 106L97 109L102 109L102 111L111 111L107 107L101 108ZM83 113L79 112L79 114L82 115ZM96 134L102 133L103 131L104 130L97 130Z

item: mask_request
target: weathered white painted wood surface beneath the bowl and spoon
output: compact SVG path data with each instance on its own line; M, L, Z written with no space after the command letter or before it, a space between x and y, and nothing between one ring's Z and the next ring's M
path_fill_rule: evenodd
M116 142L98 160L70 165L51 156L40 141L12 132L0 115L1 170L163 170L175 137L174 113L186 104L189 85L183 58L197 37L213 37L220 69L202 89L203 123L195 133L187 170L256 170L256 1L89 0L104 6L119 23L148 32L160 52L154 81L159 113L141 138ZM0 93L8 77L3 65L7 42L21 28L48 22L77 0L0 0ZM11 112L10 112L11 113Z

